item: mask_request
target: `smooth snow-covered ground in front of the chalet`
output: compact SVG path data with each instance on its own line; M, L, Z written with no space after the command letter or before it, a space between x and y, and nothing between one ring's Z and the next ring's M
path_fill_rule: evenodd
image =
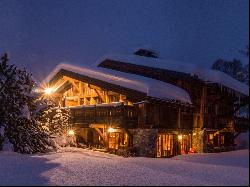
M249 150L123 158L78 148L0 152L1 185L249 185Z

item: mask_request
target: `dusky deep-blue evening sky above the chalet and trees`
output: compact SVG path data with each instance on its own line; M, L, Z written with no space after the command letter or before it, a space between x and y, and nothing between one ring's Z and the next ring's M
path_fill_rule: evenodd
M248 0L0 0L0 53L41 80L62 62L92 64L141 45L210 67L249 40Z

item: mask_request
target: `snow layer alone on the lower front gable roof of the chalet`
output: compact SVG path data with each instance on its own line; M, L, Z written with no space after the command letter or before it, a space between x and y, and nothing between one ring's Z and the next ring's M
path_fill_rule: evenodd
M61 63L55 67L55 69L46 77L43 82L49 82L61 69L136 90L147 94L148 97L154 97L163 100L178 100L182 103L189 104L192 103L189 94L185 90L172 84L139 75L98 67L84 67L69 63Z

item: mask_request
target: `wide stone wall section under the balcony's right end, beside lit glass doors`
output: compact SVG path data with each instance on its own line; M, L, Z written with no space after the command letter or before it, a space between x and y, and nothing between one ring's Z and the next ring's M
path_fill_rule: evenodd
M157 129L133 129L133 148L137 156L155 157Z

